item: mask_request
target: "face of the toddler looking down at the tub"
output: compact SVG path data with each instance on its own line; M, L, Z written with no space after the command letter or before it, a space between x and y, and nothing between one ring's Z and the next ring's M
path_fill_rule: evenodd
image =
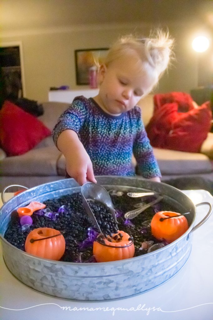
M142 62L136 52L112 61L108 67L102 65L99 71L99 100L102 107L111 114L120 114L137 105L153 84L150 75L142 69Z

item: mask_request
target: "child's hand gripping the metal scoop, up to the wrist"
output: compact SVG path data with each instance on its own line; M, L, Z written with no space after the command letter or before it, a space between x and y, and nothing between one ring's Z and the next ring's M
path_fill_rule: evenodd
M88 182L87 180L97 182L94 177L92 162L84 148L66 157L66 171L80 185Z

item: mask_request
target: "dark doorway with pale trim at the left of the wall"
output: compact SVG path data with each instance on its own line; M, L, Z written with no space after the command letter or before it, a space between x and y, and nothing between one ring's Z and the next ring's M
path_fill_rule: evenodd
M24 97L26 92L21 42L0 44L0 66L6 96L13 100Z

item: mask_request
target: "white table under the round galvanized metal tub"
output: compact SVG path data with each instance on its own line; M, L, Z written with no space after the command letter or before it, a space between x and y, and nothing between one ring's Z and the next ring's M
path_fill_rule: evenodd
M213 204L213 198L207 191L188 190L184 193L194 203L208 201ZM202 220L208 209L207 205L197 208L196 223ZM12 276L4 264L2 253L0 279L2 320L212 320L213 214L194 231L192 252L179 273L159 287L132 298L84 302L44 295Z

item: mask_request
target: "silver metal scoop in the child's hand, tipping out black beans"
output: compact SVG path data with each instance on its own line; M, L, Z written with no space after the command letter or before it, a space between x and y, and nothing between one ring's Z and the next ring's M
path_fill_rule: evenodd
M93 183L93 182L87 182L83 184L83 186L81 187L81 195L82 195L82 202L83 202L84 209L86 210L88 216L94 222L96 228L100 231L101 234L103 234L103 232L101 231L101 228L99 227L99 224L95 219L94 213L90 209L90 206L87 202L88 200L97 200L103 203L104 205L106 205L109 208L114 221L117 222L115 210L113 208L110 195L105 188L100 186L100 184Z

